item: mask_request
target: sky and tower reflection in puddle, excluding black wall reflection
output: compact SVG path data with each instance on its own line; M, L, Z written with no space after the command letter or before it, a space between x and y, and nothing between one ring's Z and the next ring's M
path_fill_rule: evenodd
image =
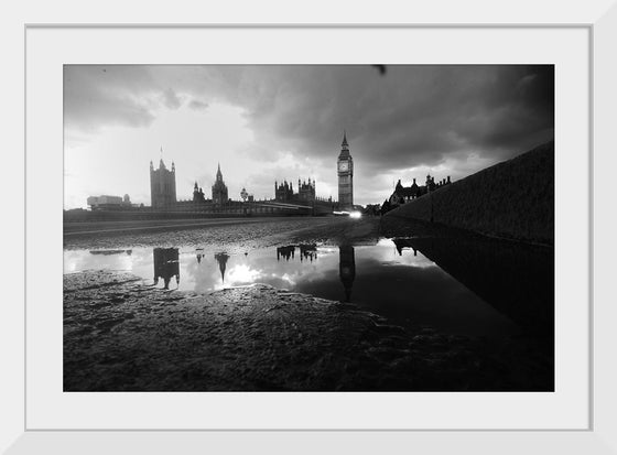
M64 251L64 272L131 272L162 292L210 293L264 283L278 289L350 302L399 325L444 332L509 336L507 316L444 272L421 252L375 246L290 245L227 253L212 247Z

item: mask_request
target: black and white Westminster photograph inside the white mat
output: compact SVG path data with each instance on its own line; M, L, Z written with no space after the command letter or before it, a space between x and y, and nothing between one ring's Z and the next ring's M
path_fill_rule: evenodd
M554 391L554 89L65 64L63 391Z

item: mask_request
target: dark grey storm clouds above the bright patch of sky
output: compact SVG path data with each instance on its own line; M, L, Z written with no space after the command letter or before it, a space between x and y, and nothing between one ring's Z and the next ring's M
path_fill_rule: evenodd
M255 144L331 163L347 130L359 174L447 163L452 173L553 138L551 65L67 66L65 121L148 126L182 99L241 107ZM472 160L472 161L469 161ZM475 169L478 170L478 169Z

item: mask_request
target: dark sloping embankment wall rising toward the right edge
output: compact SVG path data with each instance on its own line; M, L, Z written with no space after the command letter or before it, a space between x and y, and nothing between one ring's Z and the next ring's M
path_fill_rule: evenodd
M385 215L554 243L554 142L487 167Z

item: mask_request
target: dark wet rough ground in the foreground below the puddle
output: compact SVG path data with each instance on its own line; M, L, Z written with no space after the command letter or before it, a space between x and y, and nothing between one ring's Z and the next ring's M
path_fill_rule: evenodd
M65 391L546 391L549 359L530 340L412 331L262 284L198 294L64 275Z

